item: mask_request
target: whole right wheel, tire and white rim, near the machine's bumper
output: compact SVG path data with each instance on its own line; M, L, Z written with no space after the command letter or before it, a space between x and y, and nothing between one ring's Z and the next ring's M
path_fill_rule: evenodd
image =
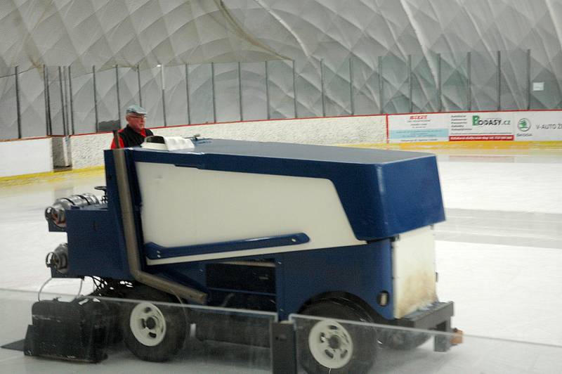
M322 300L302 314L346 321L367 321L358 309L339 300ZM377 355L377 333L365 325L322 319L303 321L299 328L299 362L308 373L367 373Z

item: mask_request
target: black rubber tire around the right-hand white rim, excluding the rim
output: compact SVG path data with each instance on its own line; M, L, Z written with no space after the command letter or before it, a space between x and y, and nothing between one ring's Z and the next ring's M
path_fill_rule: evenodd
M336 318L346 321L372 322L370 316L358 308L355 304L346 300L327 299L309 305L301 314L325 318ZM377 331L366 325L352 325L340 323L343 326L351 342L353 351L351 359L341 368L329 368L320 364L313 356L308 343L308 336L315 325L321 321L306 320L297 323L297 352L299 352L299 363L307 373L330 373L330 374L364 374L367 373L377 359Z

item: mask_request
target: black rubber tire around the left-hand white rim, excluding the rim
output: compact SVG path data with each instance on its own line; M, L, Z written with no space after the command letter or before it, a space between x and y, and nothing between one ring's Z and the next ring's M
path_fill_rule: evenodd
M126 295L127 299L146 300L156 302L153 304L164 316L166 332L161 342L155 346L148 346L140 342L131 331L131 312L139 304L136 302L123 302L121 314L121 328L123 341L129 350L144 361L162 362L172 359L185 343L188 321L181 307L170 307L157 302L177 302L178 300L159 290L147 286L132 288Z

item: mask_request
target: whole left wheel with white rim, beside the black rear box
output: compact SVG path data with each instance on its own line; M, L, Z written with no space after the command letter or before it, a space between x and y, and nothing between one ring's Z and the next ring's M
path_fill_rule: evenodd
M122 308L123 340L139 359L162 362L176 356L185 342L187 321L183 309L159 304L174 302L163 292L140 286L127 295Z

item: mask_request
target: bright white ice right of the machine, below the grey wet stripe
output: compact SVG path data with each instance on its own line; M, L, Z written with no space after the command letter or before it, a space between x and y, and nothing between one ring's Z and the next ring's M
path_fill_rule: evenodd
M438 241L436 263L465 333L562 346L561 248Z

